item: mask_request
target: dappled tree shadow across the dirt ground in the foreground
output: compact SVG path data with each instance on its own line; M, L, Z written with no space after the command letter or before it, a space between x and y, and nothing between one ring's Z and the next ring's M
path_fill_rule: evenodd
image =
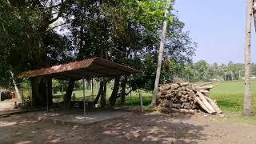
M93 126L60 126L22 114L0 119L3 143L198 143L206 140L188 115L130 114Z

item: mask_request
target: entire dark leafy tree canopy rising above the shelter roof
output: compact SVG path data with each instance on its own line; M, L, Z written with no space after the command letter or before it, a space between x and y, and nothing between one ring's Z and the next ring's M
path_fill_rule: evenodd
M18 74L97 56L142 70L131 79L132 86L152 90L163 20L170 24L161 82L171 82L186 70L196 45L174 13L164 16L166 3L0 0L0 85L10 86L10 70ZM127 78L117 82L128 83Z

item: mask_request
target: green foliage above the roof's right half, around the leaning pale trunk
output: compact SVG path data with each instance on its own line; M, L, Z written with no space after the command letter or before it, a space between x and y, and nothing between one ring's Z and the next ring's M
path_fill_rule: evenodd
M194 42L182 31L184 24L173 14L164 16L167 1L105 1L75 3L71 8L71 39L77 59L98 56L142 70L133 76L133 89L153 90L162 21L169 23L161 82L170 82L182 64L194 55ZM90 3L90 5L88 4ZM171 7L171 6L170 6ZM86 14L84 14L86 11ZM70 18L67 15L66 18ZM170 69L170 61L178 68ZM168 68L169 67L169 68ZM170 72L170 70L173 70Z

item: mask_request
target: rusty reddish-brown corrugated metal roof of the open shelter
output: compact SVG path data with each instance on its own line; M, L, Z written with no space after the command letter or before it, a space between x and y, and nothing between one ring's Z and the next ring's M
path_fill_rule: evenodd
M88 58L83 61L50 66L39 70L30 70L17 75L17 78L45 76L56 79L82 79L114 77L118 75L139 73L140 70L120 65L102 58Z

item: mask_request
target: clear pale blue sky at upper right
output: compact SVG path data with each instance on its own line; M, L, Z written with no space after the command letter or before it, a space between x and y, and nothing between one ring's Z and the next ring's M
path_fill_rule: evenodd
M176 0L174 9L198 43L194 62L244 62L246 0ZM252 30L252 62L256 62Z

